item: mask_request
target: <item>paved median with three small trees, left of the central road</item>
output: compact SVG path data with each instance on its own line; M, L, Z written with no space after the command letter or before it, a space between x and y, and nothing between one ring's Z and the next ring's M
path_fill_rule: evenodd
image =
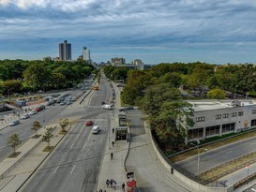
M49 125L57 126L57 125ZM58 135L60 127L56 127L53 130L53 139L51 140L51 146L56 146L57 143L62 140L65 135ZM43 135L45 128L38 130L38 135ZM29 139L22 146L20 146L16 152L21 152L16 157L7 157L0 162L0 191L9 192L17 191L34 173L35 170L46 159L49 152L43 152L42 150L47 146L46 142L41 142L41 138Z

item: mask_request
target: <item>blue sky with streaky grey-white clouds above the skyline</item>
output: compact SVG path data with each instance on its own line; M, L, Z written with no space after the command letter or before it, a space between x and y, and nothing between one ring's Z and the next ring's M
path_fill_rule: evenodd
M256 0L0 0L0 60L256 63Z

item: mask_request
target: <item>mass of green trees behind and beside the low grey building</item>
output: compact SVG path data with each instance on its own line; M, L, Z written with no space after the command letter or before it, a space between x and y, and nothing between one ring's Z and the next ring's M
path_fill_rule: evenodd
M256 90L252 64L164 63L145 70L104 66L104 73L111 80L126 81L122 102L142 109L161 147L169 152L186 148L187 131L181 124L194 125L187 96L220 99L226 92L253 95Z

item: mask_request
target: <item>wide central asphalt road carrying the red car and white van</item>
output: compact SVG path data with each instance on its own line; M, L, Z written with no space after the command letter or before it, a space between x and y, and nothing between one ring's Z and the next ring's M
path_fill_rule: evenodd
M101 78L99 88L83 110L62 112L62 116L74 118L77 115L77 124L68 131L65 140L62 140L23 191L94 191L112 114L112 111L101 108L101 102L108 101L112 94L105 78ZM100 127L98 135L92 134L92 126L84 126L88 119Z

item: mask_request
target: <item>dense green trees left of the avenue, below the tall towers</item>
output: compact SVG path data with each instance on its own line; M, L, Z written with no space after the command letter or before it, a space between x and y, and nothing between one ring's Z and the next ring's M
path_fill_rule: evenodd
M0 93L34 92L68 88L87 78L95 67L83 60L66 62L52 60L0 61Z

